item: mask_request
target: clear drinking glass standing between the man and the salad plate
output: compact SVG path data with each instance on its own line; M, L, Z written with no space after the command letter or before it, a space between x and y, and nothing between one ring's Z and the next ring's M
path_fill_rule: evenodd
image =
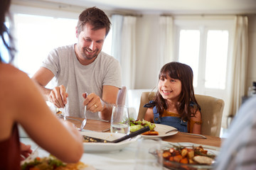
M110 131L129 134L129 110L127 106L113 106Z

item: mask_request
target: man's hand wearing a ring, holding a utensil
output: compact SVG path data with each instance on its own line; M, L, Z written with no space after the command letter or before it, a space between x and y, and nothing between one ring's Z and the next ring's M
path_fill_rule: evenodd
M83 105L87 106L88 111L95 113L103 110L104 102L102 102L99 96L94 93L89 94L88 96L82 94L82 96L85 98Z

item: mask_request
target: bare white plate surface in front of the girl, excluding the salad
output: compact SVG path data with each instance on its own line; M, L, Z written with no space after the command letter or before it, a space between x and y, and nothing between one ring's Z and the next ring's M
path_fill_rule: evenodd
M166 134L166 132L168 132L169 130L173 130L176 128L169 125L161 125L161 124L155 124L155 125L156 127L154 128L154 130L159 132L159 135L142 135L142 137L166 137L166 136L175 135L178 132L175 130L173 132L169 132Z

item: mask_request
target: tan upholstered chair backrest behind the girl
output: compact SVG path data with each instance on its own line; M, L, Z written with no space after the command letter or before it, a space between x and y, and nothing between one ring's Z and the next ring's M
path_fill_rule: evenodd
M138 119L142 120L146 113L144 104L154 98L155 92L143 92L141 96L141 103L139 106ZM204 96L196 94L196 101L201 106L202 113L202 135L220 136L221 120L224 109L224 101L220 98L214 98L211 96Z

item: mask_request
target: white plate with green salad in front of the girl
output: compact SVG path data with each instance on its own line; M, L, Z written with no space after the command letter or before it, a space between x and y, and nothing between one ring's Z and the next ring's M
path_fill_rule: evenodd
M135 132L136 130L144 128L144 126L149 126L150 131L142 133L142 137L166 137L175 135L178 132L176 128L169 125L150 123L146 120L130 120L130 132ZM174 131L166 134L169 130Z

